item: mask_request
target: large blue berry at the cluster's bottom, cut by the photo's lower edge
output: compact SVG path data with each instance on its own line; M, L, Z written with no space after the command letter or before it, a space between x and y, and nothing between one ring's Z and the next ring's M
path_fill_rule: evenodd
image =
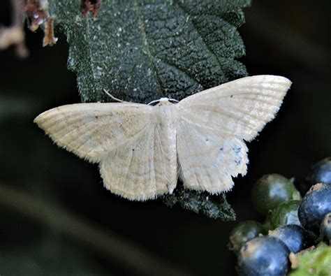
M238 273L246 276L286 275L290 250L281 240L263 236L246 242L238 254Z

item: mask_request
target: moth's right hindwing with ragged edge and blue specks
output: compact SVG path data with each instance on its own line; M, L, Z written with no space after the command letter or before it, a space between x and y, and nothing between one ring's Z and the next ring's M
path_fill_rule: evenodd
M233 187L231 176L247 172L244 141L216 129L179 119L179 176L189 189L218 194Z

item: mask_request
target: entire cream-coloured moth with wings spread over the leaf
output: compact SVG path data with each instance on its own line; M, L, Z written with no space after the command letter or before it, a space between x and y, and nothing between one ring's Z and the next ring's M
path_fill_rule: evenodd
M184 187L219 194L247 173L247 145L274 118L287 78L240 78L186 97L141 103L77 103L34 122L57 145L98 163L112 193L144 201Z

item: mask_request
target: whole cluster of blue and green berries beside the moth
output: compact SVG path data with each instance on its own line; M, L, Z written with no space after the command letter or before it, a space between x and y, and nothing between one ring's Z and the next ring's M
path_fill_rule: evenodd
M312 166L304 185L311 187L301 198L282 175L264 175L254 184L253 205L266 218L263 224L244 221L230 233L240 275L331 273L331 158Z

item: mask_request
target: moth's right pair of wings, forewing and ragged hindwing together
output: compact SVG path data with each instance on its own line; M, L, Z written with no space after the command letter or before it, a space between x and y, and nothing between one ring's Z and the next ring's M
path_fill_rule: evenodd
M241 78L194 94L178 106L177 152L186 187L212 193L233 186L247 171L247 147L277 113L290 80Z

